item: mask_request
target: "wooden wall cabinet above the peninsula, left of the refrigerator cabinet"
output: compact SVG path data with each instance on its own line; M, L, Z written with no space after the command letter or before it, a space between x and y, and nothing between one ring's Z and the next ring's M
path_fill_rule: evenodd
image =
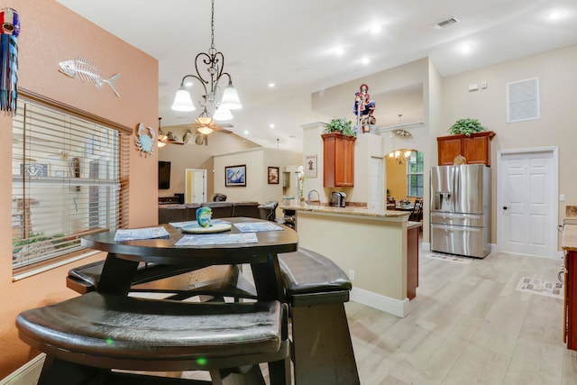
M340 133L324 133L323 186L325 188L353 187L354 141L356 137Z

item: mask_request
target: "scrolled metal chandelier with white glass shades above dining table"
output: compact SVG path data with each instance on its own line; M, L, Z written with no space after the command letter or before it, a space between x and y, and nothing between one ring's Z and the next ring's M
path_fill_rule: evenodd
M215 0L212 0L212 14L210 19L210 49L208 52L200 52L195 59L196 75L185 75L180 81L180 87L174 98L172 109L179 112L195 111L190 93L186 88L187 78L196 78L205 90L203 100L199 105L203 111L197 117L199 133L212 133L211 125L215 120L230 120L233 118L230 110L242 108L236 88L233 86L233 79L228 72L224 72L224 55L215 49ZM201 73L200 69L206 69ZM222 88L222 81L227 81L226 87ZM212 111L212 113L211 113Z

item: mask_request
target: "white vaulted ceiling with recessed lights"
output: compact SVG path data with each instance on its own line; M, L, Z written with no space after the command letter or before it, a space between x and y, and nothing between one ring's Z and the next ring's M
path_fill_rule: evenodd
M197 53L210 48L209 0L57 1L159 60L162 125L193 123L199 109L185 115L170 105ZM563 14L553 21L554 12ZM432 28L449 18L460 23ZM353 118L311 112L311 94L326 87L424 57L449 76L576 43L576 0L215 0L215 48L243 102L233 132L294 151L302 124Z

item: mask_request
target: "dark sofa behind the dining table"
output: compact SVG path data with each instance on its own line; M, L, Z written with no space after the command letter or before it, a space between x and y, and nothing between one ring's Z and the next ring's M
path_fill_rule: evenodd
M258 202L203 202L200 204L188 203L186 205L159 205L159 224L194 221L197 219L198 207L210 207L213 211L213 219L232 216L269 219L266 210L261 210L259 206L261 204ZM263 214L261 215L261 213Z

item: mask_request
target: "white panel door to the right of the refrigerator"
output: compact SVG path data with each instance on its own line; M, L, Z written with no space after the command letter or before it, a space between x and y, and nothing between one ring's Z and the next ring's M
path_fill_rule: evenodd
M497 240L501 252L554 257L557 149L499 151Z

